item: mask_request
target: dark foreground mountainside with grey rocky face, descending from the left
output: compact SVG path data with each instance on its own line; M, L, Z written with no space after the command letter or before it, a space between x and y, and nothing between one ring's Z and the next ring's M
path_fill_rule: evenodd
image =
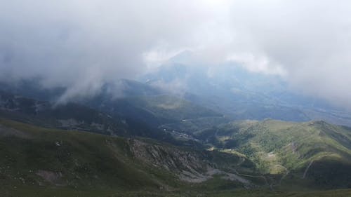
M2 118L0 156L5 158L0 160L1 196L348 196L351 193L350 190L270 191L266 183L272 182L269 176L257 174L252 161L235 151L174 147L153 140L40 128ZM318 166L316 170L320 170ZM310 168L309 174L313 175L313 167Z

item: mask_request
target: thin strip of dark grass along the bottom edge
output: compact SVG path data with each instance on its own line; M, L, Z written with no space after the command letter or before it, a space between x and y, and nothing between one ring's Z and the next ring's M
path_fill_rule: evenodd
M349 197L351 190L331 191L269 191L263 189L229 189L222 191L180 190L180 191L126 191L126 190L96 190L72 189L63 187L19 186L15 189L0 189L4 197Z

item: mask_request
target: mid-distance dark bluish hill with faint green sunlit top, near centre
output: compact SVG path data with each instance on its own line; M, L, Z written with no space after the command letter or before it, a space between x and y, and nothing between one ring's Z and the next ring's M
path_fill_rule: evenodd
M211 109L171 95L123 97L98 102L94 98L85 104L111 116L123 114L153 126L179 122L186 118L222 116Z

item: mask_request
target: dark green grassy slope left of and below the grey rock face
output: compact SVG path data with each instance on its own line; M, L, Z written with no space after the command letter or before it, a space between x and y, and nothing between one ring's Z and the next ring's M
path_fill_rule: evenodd
M37 128L13 121L0 123L20 130L17 136L0 137L3 186L56 184L89 189L157 189L173 179L164 170L156 171L134 161L123 138ZM46 181L36 175L39 170L62 177Z

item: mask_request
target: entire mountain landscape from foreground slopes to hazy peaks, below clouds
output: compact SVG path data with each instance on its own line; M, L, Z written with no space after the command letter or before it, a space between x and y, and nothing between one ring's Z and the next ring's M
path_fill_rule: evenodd
M69 100L2 82L1 196L351 195L350 112L187 55Z

